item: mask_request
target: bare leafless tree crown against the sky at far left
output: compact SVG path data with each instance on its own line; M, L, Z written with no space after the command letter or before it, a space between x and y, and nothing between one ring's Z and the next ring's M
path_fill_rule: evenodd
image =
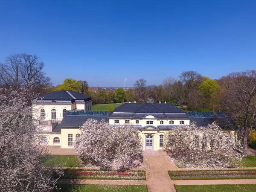
M6 57L6 63L0 64L0 84L6 88L50 83L50 78L43 72L44 62L37 55L26 53Z

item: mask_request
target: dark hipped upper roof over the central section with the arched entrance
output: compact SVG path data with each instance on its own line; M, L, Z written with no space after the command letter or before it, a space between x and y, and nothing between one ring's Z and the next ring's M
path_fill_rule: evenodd
M131 113L184 113L170 103L124 103L114 109L114 112Z

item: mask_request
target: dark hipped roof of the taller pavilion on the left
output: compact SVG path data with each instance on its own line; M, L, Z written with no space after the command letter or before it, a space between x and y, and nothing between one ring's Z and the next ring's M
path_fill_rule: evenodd
M61 91L52 91L44 95L38 96L38 100L86 100L90 101L92 98L90 96L78 93L76 91L70 90L61 90Z

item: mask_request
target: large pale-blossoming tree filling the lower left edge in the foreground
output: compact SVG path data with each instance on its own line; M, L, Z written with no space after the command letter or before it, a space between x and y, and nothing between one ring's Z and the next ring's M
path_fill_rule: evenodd
M42 130L32 119L32 90L0 89L0 191L51 191L57 182L55 167L45 166L47 148L39 145Z

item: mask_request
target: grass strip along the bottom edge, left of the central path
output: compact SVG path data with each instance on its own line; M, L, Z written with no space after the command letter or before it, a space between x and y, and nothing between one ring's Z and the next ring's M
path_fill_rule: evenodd
M55 192L148 192L147 185L58 184Z

